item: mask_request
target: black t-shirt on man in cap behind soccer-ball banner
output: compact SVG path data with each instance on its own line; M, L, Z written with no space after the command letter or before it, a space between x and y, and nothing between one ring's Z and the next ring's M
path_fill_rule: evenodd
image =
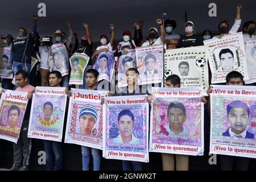
M203 46L203 38L201 35L195 35L193 34L192 36L181 36L179 39L179 42L177 43L176 48L181 48L181 47L191 47L191 46Z

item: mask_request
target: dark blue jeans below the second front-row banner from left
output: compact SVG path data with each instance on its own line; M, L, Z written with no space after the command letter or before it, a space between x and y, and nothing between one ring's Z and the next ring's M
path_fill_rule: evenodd
M44 150L46 151L46 171L60 171L63 162L61 142L44 140Z

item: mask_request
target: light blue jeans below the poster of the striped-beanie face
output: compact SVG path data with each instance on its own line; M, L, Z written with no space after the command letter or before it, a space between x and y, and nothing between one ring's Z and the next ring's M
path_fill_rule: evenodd
M93 171L100 171L100 167L101 167L100 150L96 148L85 147L85 146L81 146L81 148L82 148L82 171L89 171L91 149L92 149L92 156L93 156Z

